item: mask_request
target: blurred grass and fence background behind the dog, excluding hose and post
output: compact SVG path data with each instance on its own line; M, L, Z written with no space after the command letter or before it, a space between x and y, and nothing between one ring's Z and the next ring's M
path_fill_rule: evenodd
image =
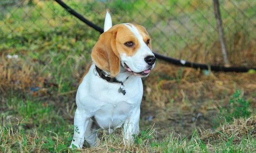
M212 0L64 2L100 27L107 8L113 24L144 26L157 53L225 64ZM255 67L256 1L219 3L230 65ZM54 0L0 0L1 123L25 119L21 126L25 133L36 129L38 135L52 136L47 132L52 130L66 145L73 133L78 82L91 62L90 52L99 35ZM170 133L190 138L195 130L215 129L233 117L252 116L255 77L253 70L240 74L201 71L157 60L150 77L143 79L141 129L155 123L162 131L159 139ZM54 141L52 137L40 141L49 140ZM7 142L6 146L10 147Z

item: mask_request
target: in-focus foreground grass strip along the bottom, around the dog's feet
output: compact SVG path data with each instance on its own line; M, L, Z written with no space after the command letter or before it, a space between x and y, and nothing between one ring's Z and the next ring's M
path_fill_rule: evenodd
M13 123L15 122L15 124ZM72 140L70 133L58 134L47 130L49 136L41 133L40 129L26 132L26 119L18 121L9 119L8 122L2 117L0 125L0 149L2 152L77 152L69 150ZM190 153L190 152L255 152L256 116L248 119L234 120L226 123L214 132L206 131L202 136L193 134L191 139L169 137L157 140L155 129L147 129L135 137L134 144L127 146L120 137L120 131L106 134L104 131L100 138L100 145L95 148L86 148L83 152L164 152L164 153Z

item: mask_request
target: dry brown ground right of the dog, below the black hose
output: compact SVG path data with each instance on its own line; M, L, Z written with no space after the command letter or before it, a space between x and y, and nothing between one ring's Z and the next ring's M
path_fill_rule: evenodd
M163 135L173 132L190 138L195 130L200 133L220 124L219 109L227 106L237 89L256 108L256 74L205 73L158 62L144 79L142 124L155 123Z

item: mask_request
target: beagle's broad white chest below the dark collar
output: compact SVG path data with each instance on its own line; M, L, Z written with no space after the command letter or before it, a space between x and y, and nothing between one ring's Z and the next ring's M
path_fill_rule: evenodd
M124 85L125 95L118 92L120 84L106 82L95 76L93 68L90 68L78 88L77 107L90 116L99 127L121 127L128 117L133 117L132 112L140 109L143 95L140 78L130 77Z

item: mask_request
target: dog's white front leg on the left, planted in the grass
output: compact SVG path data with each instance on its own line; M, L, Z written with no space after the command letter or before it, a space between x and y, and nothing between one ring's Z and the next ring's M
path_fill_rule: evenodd
M87 128L90 117L86 115L84 111L76 109L74 117L74 136L71 142L70 148L81 149L84 144L84 134ZM74 146L75 145L75 146Z

